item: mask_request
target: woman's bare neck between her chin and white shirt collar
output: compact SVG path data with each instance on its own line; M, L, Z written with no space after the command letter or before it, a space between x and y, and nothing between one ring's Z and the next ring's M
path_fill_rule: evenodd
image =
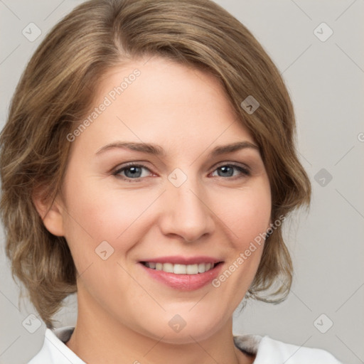
M87 364L247 364L254 360L235 347L232 318L201 341L191 335L188 343L176 344L132 330L99 305L84 304L80 292L78 313L66 345Z

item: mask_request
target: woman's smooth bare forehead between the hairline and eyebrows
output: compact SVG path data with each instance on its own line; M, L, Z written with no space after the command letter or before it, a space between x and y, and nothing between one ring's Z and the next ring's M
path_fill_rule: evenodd
M92 122L77 143L87 139L95 149L111 139L180 149L206 148L217 140L253 141L213 75L164 58L108 70L95 90L93 107Z

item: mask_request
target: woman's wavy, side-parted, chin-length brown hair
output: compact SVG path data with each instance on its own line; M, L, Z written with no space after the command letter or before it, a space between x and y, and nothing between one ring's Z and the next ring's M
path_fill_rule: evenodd
M100 77L109 68L151 55L203 68L220 80L239 121L259 145L272 191L272 221L309 206L311 185L296 156L289 94L242 23L210 0L87 1L38 46L0 136L6 254L48 327L63 299L77 291L77 277L65 238L45 229L32 196L43 187L45 198L54 200L60 191L70 149L67 135L87 114ZM253 113L241 107L250 95L259 102ZM264 245L247 296L282 301L291 278L279 226Z

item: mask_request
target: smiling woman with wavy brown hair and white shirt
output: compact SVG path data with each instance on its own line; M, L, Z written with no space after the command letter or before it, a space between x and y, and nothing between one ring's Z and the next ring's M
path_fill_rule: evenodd
M294 127L272 60L212 1L60 21L0 140L6 252L48 326L30 363L338 363L232 335L242 299L289 293L282 223L311 196ZM52 330L75 291L75 328Z

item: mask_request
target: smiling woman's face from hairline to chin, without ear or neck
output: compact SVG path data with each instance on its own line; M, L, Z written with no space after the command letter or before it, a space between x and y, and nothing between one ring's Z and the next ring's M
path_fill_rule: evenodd
M255 277L263 245L251 242L269 228L269 180L213 76L144 63L111 70L97 110L70 137L53 231L68 241L90 320L188 343L230 324ZM215 151L235 143L243 147Z

